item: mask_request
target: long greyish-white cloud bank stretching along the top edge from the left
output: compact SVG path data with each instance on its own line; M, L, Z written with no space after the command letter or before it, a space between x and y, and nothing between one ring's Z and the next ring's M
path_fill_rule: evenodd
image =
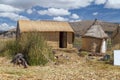
M13 5L17 8L27 9L32 6L41 6L45 8L64 8L75 9L89 6L94 0L1 0L1 4Z

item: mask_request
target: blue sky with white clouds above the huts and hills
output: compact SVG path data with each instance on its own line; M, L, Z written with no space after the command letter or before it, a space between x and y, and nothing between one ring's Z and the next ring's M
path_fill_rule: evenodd
M120 0L0 0L0 30L16 27L19 19L120 23Z

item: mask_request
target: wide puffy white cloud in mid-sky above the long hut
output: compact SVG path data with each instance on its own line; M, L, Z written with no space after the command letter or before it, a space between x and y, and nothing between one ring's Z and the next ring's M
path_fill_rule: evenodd
M70 15L71 13L65 9L49 8L48 10L38 11L40 15L49 15L49 16L64 16Z

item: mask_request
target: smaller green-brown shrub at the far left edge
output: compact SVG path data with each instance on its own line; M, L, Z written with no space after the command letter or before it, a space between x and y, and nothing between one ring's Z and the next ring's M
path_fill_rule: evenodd
M0 42L2 44L2 46L0 46L0 56L11 58L15 53L20 52L21 46L16 40L6 39Z

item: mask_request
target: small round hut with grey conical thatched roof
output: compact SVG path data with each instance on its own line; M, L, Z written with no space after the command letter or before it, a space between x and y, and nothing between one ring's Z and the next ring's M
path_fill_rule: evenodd
M82 36L82 50L105 53L102 51L102 45L107 37L101 25L93 24Z

